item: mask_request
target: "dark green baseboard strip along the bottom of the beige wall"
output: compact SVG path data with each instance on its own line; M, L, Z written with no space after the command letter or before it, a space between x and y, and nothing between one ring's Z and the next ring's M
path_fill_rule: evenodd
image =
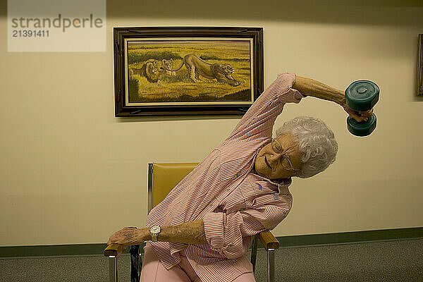
M303 247L412 238L423 238L423 227L281 236L278 237L278 241L281 247ZM260 244L259 247L262 245ZM0 257L102 255L105 248L106 244L11 246L0 247ZM128 249L125 252L128 252Z

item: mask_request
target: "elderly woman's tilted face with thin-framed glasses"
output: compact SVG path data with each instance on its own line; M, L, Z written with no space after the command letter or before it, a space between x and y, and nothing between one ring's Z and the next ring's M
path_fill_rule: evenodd
M255 159L255 171L269 179L298 176L302 167L302 153L290 134L283 134L260 149Z

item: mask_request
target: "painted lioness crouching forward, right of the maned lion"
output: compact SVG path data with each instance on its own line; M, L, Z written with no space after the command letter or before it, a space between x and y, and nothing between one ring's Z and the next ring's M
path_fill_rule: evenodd
M183 57L183 61L176 70L167 69L167 71L179 71L185 65L190 72L190 78L198 82L200 81L200 75L208 79L216 79L218 82L226 82L232 86L240 85L240 82L232 77L232 73L235 71L233 66L228 63L207 63L200 59L195 54L189 54Z

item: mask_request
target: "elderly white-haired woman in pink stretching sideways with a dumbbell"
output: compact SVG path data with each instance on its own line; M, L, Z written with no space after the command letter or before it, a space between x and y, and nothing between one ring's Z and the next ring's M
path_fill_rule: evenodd
M343 91L283 73L259 96L231 135L149 213L147 228L123 228L110 243L145 241L141 281L255 281L247 250L252 238L290 211L293 177L324 171L336 157L333 132L298 117L272 129L283 105L313 96L336 102L357 121Z

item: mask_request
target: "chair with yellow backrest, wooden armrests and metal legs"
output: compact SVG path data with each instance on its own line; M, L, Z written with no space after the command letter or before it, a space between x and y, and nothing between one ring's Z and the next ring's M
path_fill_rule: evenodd
M166 163L149 164L148 168L148 211L164 200L168 192L175 187L197 163ZM251 263L255 270L257 257L257 237L267 251L267 281L274 282L274 250L279 248L279 242L274 235L266 230L255 236L252 243ZM118 281L118 256L121 255L123 246L118 244L109 245L104 250L104 256L109 257L109 281ZM131 282L140 281L142 259L140 256L140 245L130 246L131 255Z

